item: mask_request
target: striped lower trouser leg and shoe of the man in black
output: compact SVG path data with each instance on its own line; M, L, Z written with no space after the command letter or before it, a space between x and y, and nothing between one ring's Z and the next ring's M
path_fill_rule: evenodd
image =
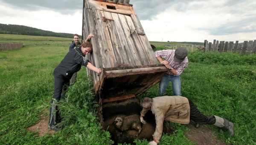
M52 99L50 103L51 103L51 107L49 109L48 128L52 129L54 131L59 131L59 130L61 130L61 128L58 127L57 123L56 123L56 114L57 114L56 103L57 103L57 100L56 99Z

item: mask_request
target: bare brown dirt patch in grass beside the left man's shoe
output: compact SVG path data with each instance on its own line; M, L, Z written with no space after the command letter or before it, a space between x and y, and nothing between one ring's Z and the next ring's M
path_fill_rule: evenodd
M47 111L48 110L45 110L44 112L47 112ZM33 131L33 132L38 132L40 137L46 135L47 133L49 133L49 134L55 133L53 130L50 130L48 128L48 119L49 119L49 116L46 115L46 113L43 113L41 115L41 120L39 122L37 122L36 125L33 125L33 126L27 128L27 130Z

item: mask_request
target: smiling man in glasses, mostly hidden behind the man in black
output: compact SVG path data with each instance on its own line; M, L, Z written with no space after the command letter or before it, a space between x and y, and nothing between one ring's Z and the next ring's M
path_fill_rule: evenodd
M94 37L92 34L88 35L88 37L86 38L85 41L88 41L90 42L90 39ZM75 50L76 47L79 47L81 45L80 41L79 41L79 35L78 34L75 34L73 35L73 41L72 41L72 44L70 44L70 48L69 48L69 51L73 51ZM77 73L74 73L73 76L70 78L70 85L73 85L75 84L76 82L76 77L77 77ZM63 92L64 93L64 92Z

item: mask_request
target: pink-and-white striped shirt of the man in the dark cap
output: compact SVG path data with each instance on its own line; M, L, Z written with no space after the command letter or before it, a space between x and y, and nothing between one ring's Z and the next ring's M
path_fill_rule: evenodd
M158 50L154 53L155 53L155 57L165 58L165 60L169 63L169 65L175 70L177 70L177 75L180 75L183 72L183 70L188 67L188 64L189 64L188 57L186 57L180 63L174 61L175 50L172 50L172 49ZM167 74L173 75L170 70L167 72Z

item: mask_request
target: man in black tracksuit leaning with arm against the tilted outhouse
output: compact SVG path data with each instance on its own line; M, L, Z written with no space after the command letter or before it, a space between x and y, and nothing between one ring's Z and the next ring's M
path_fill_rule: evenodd
M90 63L85 55L92 52L92 45L90 42L84 42L80 47L75 47L73 51L67 53L61 63L54 70L54 94L51 100L51 107L49 110L49 122L48 127L55 131L61 128L57 126L59 122L59 110L56 103L61 99L61 92L64 86L68 86L70 78L76 72L81 69L81 66L85 66L90 70L97 73L101 73L101 69L96 68Z

